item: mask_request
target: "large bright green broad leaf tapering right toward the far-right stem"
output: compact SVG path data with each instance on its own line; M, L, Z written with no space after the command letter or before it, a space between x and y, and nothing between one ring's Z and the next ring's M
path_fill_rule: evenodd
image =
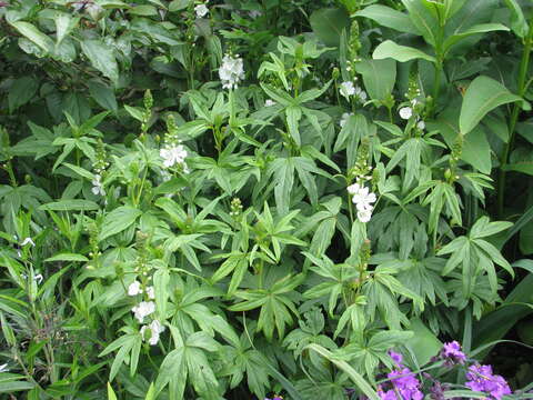
M474 129L483 117L499 106L521 101L519 96L511 93L502 83L489 77L477 77L463 98L459 129L466 134Z

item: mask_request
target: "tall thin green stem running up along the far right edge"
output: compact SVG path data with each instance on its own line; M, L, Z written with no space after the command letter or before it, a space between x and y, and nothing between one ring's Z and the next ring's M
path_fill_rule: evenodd
M530 30L526 38L524 39L524 51L522 52L522 60L520 61L519 69L519 96L523 97L527 88L525 83L527 67L530 64L531 48L533 44L533 20L530 22ZM505 146L500 161L500 174L497 180L497 214L500 218L503 216L503 208L505 201L505 166L509 162L509 154L513 148L514 143L514 133L516 128L516 122L519 121L520 116L520 102L515 102L513 111L511 112L511 119L509 121L509 142Z

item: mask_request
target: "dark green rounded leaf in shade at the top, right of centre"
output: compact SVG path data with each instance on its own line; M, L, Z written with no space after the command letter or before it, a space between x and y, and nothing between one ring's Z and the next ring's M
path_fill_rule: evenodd
M350 18L343 9L320 9L309 18L313 32L325 46L338 47L343 29L350 27Z

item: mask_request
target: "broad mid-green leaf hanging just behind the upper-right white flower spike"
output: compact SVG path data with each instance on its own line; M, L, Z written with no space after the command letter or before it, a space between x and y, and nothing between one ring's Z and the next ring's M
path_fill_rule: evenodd
M385 60L361 60L355 70L363 77L364 88L373 100L384 100L391 94L396 80L396 62Z

